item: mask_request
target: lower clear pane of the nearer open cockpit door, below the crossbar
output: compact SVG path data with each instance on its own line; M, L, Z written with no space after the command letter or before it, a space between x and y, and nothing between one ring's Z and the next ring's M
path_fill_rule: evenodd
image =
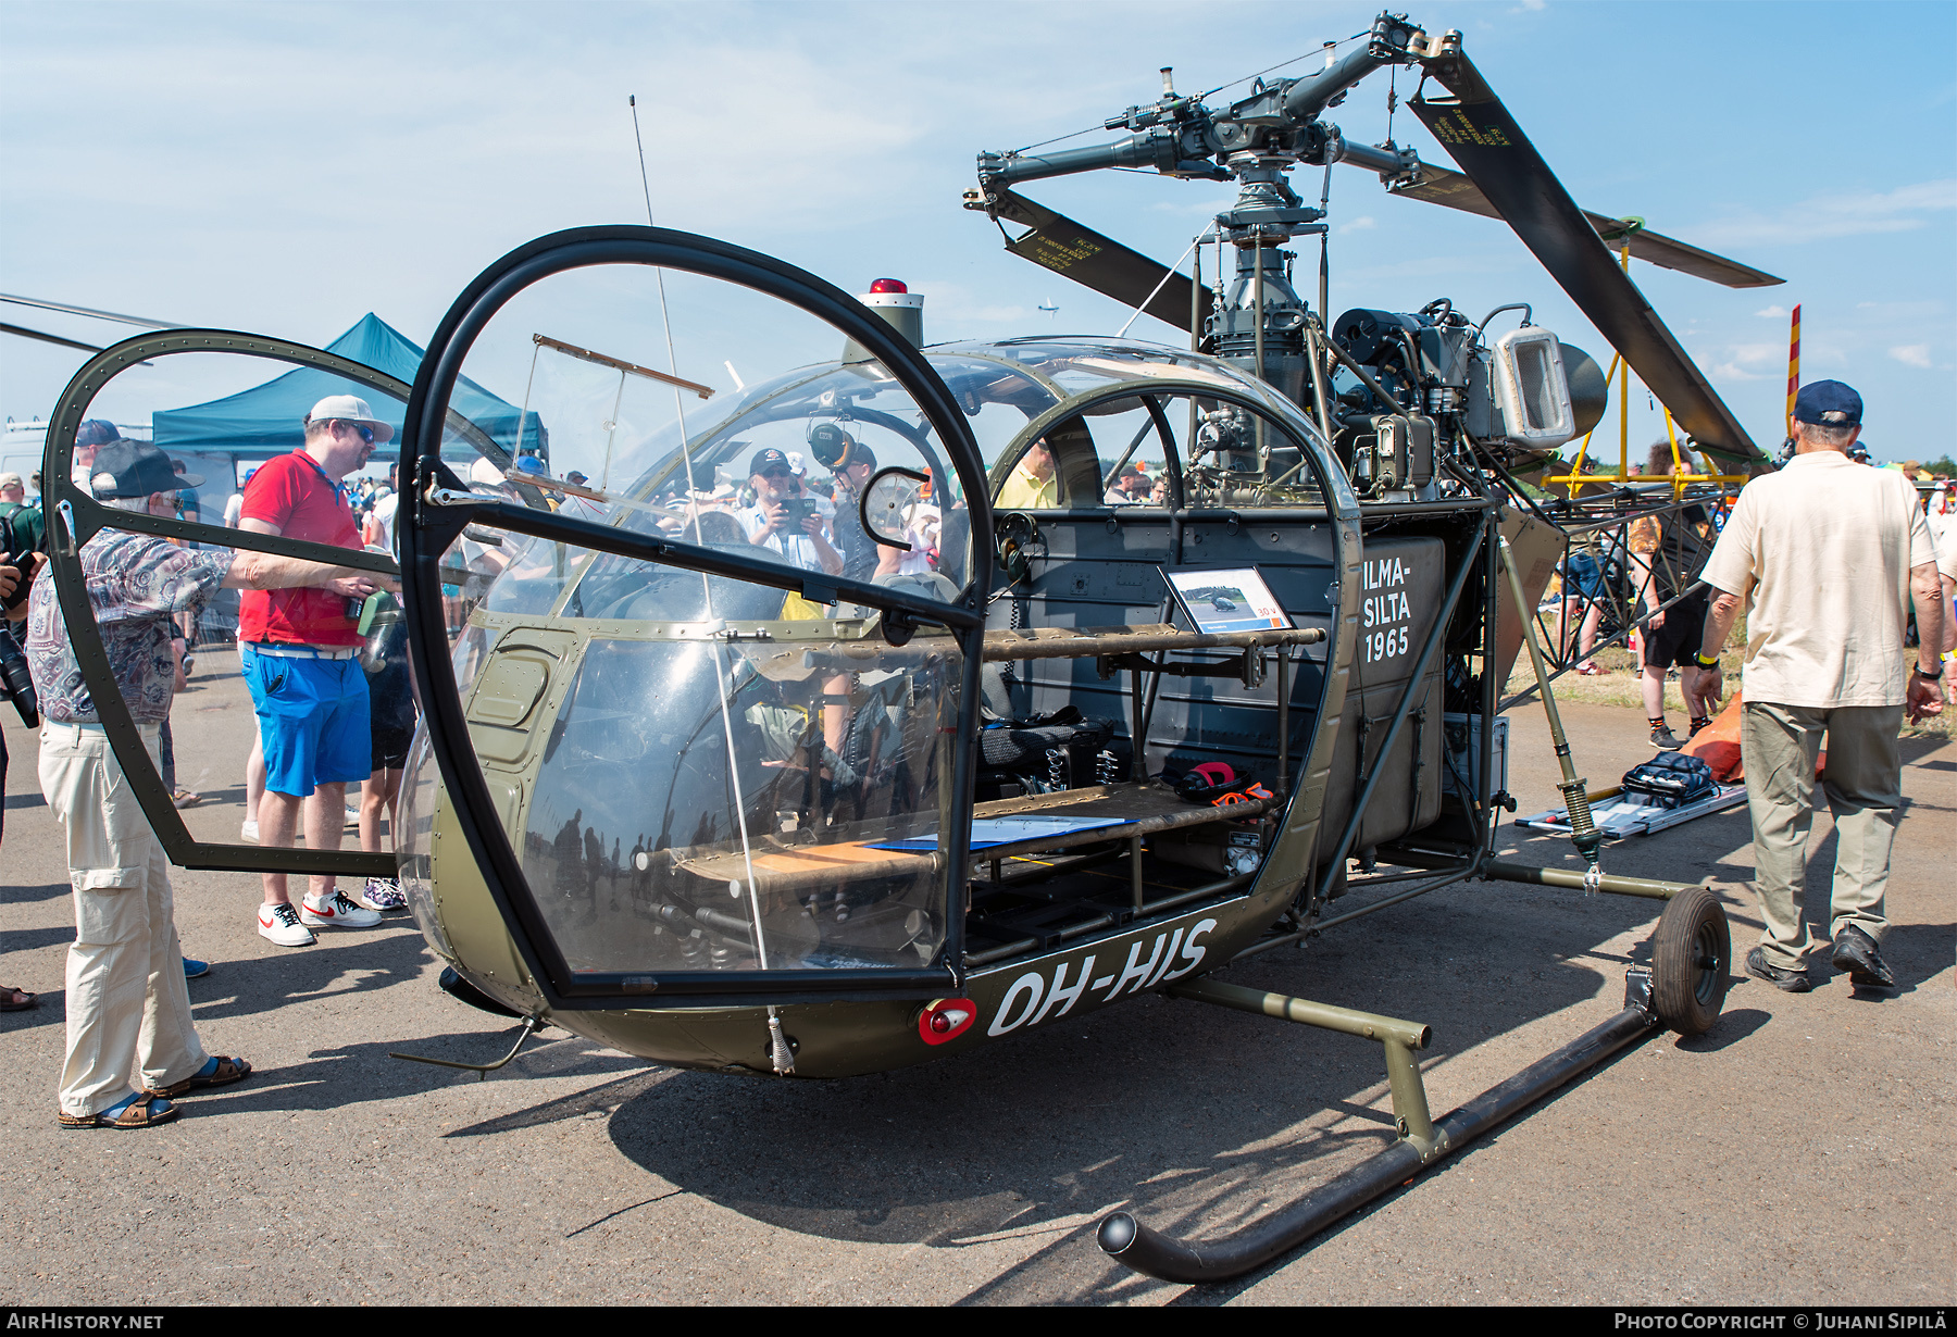
M810 624L734 654L648 632L581 646L519 842L573 969L930 961L959 656L853 632Z

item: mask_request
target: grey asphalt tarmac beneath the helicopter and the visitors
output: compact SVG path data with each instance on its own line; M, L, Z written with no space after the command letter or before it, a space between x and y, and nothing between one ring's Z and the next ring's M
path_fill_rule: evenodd
M237 838L250 709L235 658L176 707L213 795L194 832ZM1511 789L1552 807L1536 707L1511 713ZM1566 711L1603 785L1650 756L1638 711ZM12 1304L1945 1304L1957 1294L1957 746L1906 740L1883 949L1894 994L1736 979L1699 1039L1622 1053L1466 1153L1223 1286L1110 1263L1115 1206L1223 1235L1384 1147L1372 1043L1147 996L961 1059L845 1083L648 1067L546 1032L507 1069L497 1018L434 987L405 918L276 947L256 877L174 871L213 1053L256 1075L147 1131L63 1131L61 830L14 756L0 848L0 1294ZM198 760L202 758L202 760ZM235 760L235 765L231 763ZM229 769L227 769L229 767ZM1503 830L1513 857L1568 842ZM1826 934L1834 836L1816 820ZM1736 967L1757 942L1746 810L1611 846L1609 871L1712 879ZM1372 893L1384 895L1384 893ZM1362 900L1354 893L1352 902ZM1434 1028L1438 1114L1622 1006L1656 902L1470 883L1221 979Z

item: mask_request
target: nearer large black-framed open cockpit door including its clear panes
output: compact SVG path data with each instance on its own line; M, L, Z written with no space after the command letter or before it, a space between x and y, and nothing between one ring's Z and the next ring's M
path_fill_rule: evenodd
M536 444L450 460L468 384ZM501 981L507 928L513 989L575 1010L957 987L990 511L896 329L710 239L544 237L444 317L403 478L436 949Z

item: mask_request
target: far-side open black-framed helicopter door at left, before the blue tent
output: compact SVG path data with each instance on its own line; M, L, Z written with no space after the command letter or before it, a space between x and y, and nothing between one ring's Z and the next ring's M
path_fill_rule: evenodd
M98 607L80 564L82 544L135 540L184 548L188 560L204 562L205 570L225 568L237 554L270 552L376 576L395 574L395 562L384 548L346 550L223 525L227 501L241 491L247 470L299 450L307 409L329 395L364 399L378 421L399 433L407 384L386 372L280 339L176 329L129 339L90 358L63 392L49 423L41 474L49 521L45 579L53 581L80 681L129 789L170 861L182 867L352 877L393 873L391 853L362 853L358 840L350 838L344 850L278 850L254 844L249 824L254 814L237 803L245 797L256 736L252 703L243 691L227 691L219 681L241 669L237 589L221 589L196 607L170 613L188 656L198 664L186 675L188 691L170 691L172 666L164 664L139 673L153 691L127 701L117 687L115 662L119 656L157 650L155 617L141 622L147 630L137 630L137 622L125 617L127 605ZM153 423L157 444L184 462L184 485L149 499L96 501L76 482L88 478L94 458L94 446L74 444L78 429L90 419ZM472 456L487 452L507 458L515 450L515 438L499 444L464 419L454 421L448 437L458 442L452 450L468 450ZM466 446L460 444L464 438ZM389 448L380 444L378 458L386 460L387 454ZM129 554L135 552L131 546ZM155 558L151 546L137 562L139 570L157 570ZM331 603L325 593L321 599ZM346 628L358 624L356 617L339 621ZM155 756L145 742L147 730L139 724L160 724ZM348 793L358 793L358 785L350 785ZM243 830L241 816L247 818Z

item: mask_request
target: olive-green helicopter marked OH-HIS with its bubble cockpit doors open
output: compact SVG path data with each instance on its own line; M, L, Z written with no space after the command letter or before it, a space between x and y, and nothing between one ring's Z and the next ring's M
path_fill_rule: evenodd
M1323 119L1386 67L1444 90L1407 106L1460 172L1346 143ZM1777 280L1579 209L1460 35L1405 16L1221 110L1174 94L1164 70L1161 100L1106 129L1129 133L978 155L965 206L1024 225L1016 254L1182 325L1190 348L926 345L922 298L900 282L851 296L744 247L607 225L487 266L411 384L237 331L160 331L94 356L49 425L51 577L172 861L399 875L444 989L521 1018L509 1057L548 1024L673 1067L842 1079L1157 991L1380 1043L1401 1137L1358 1171L1227 1241L1166 1239L1127 1212L1102 1223L1110 1255L1172 1280L1249 1270L1656 1028L1710 1028L1724 912L1705 887L1603 871L1560 728L1587 871L1507 865L1493 840L1513 810L1501 691L1526 648L1554 720L1562 646L1542 650L1534 609L1571 534L1724 484L1532 495L1525 480L1603 413L1597 362L1526 309L1503 333L1507 307L1470 321L1448 300L1331 319L1323 264L1317 305L1294 284L1286 243L1323 239L1325 207L1290 174L1344 162L1391 194L1509 221L1691 442L1746 472L1771 464L1626 256ZM1016 190L1115 166L1237 182L1207 233L1233 249L1231 278L1217 264L1206 286L1200 245L1182 276ZM730 374L769 348L830 352L724 395L677 362L605 352L648 333L669 280L742 313L751 341ZM571 319L593 333L542 329ZM521 405L481 390L499 366L487 350L501 366L528 350ZM196 356L284 364L380 405L401 442L397 554L112 511L76 487L90 405L139 366ZM532 411L540 382L583 399ZM658 395L671 417L642 429ZM791 456L851 482L820 497ZM1135 460L1159 462L1155 489L1114 495ZM730 501L742 480L748 505ZM94 628L78 550L106 529L397 576L399 609L368 646L405 658L421 709L393 853L192 838ZM1687 589L1693 572L1679 576ZM1427 1026L1211 979L1470 877L1665 912L1618 1018L1452 1114L1425 1102ZM1391 895L1339 906L1366 887Z

